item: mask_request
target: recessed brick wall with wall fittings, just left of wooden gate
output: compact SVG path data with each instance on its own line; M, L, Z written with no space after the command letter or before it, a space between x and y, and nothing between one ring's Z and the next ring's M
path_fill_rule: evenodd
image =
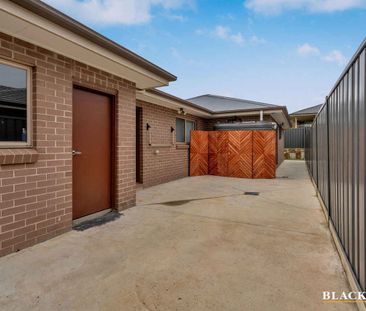
M138 101L137 105L142 107L142 180L144 187L188 176L188 146L149 146L146 123L151 126L149 131L153 144L171 144L170 128L175 128L177 117L196 121L197 129L205 129L206 120L192 115L181 116L176 110L146 102ZM155 153L157 150L158 154Z

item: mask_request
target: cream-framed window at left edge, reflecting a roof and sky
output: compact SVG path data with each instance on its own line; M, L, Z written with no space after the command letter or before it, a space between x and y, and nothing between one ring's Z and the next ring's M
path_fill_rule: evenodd
M30 69L0 60L0 147L30 144Z

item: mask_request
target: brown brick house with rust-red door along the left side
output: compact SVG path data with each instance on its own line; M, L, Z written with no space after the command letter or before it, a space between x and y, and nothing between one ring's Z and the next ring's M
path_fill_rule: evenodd
M284 107L215 112L154 90L174 80L40 1L0 0L0 256L133 206L136 179L187 176L190 129L263 115L281 143Z

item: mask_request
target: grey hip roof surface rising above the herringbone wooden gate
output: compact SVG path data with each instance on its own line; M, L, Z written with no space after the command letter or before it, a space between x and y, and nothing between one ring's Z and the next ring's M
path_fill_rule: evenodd
M236 111L236 110L260 110L268 108L279 108L280 106L265 104L252 100L218 96L218 95L201 95L187 99L189 102L206 108L213 112Z

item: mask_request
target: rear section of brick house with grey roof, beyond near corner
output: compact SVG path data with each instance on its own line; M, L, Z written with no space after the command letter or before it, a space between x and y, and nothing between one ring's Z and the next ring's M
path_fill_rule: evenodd
M158 90L137 92L136 105L136 172L137 181L144 187L188 176L189 137L183 133L187 125L213 130L217 124L273 123L277 130L277 165L284 160L283 129L290 127L286 107L215 95L183 100Z

